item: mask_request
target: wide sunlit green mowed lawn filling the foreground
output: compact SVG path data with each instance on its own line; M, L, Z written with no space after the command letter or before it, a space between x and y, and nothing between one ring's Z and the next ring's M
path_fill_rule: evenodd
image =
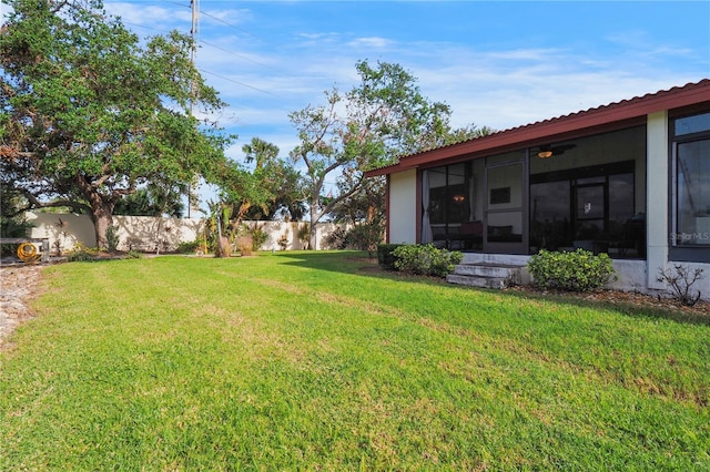
M0 470L710 470L710 326L355 255L47 268Z

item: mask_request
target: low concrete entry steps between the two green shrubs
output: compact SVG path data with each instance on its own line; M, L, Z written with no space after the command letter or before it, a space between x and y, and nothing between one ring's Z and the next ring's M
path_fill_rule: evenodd
M506 288L529 280L525 266L507 264L459 264L446 281L456 285L483 288Z

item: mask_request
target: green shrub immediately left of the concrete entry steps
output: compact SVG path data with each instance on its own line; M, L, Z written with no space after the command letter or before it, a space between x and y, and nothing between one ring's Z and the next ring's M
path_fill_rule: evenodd
M433 244L405 245L393 252L395 268L408 274L446 277L460 263L459 252L437 249Z

